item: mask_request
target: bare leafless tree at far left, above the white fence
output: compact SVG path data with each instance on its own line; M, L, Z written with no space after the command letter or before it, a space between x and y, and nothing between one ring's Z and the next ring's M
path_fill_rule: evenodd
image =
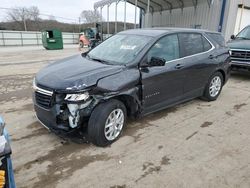
M7 12L9 21L14 21L23 25L23 29L27 31L27 20L38 21L40 11L36 6L27 7L15 7Z

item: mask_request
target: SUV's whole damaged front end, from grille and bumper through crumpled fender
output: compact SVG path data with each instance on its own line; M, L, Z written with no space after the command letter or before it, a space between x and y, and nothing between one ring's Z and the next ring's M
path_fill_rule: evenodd
M57 89L34 80L33 101L37 118L50 130L68 133L81 129L85 132L94 108L111 98L123 102L127 114L136 117L141 112L139 77L137 69L129 69L103 77L95 84L82 84L90 83L85 79Z

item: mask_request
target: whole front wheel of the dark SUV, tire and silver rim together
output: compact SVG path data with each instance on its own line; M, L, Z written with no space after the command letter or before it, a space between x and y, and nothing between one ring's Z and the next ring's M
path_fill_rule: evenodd
M120 114L120 116L118 114ZM112 120L115 118L114 115L119 116L119 118ZM96 146L105 147L110 145L120 137L126 120L126 107L119 100L111 99L99 104L92 111L89 118L88 135L90 141ZM111 132L108 133L109 131Z

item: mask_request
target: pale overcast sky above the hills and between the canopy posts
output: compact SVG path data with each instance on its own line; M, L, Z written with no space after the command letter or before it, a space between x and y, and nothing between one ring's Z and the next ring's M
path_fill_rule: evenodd
M30 7L37 6L42 14L53 15L69 19L57 18L58 21L73 23L78 22L83 10L94 10L94 3L99 0L0 0L0 8ZM100 10L100 9L98 9ZM107 7L102 15L107 20ZM109 8L109 20L115 20L115 4ZM139 22L139 11L137 12L137 23ZM124 20L124 2L118 4L118 21ZM41 16L46 19L46 16ZM48 18L48 17L47 17ZM134 23L135 7L127 3L127 22ZM6 10L0 9L0 21L6 21Z

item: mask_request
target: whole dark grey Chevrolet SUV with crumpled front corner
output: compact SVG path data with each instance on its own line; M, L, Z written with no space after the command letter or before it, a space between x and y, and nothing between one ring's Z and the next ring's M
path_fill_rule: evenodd
M193 29L120 32L42 69L33 83L36 115L52 130L85 125L90 140L106 146L120 136L127 116L197 97L216 100L230 72L221 41L219 33Z

